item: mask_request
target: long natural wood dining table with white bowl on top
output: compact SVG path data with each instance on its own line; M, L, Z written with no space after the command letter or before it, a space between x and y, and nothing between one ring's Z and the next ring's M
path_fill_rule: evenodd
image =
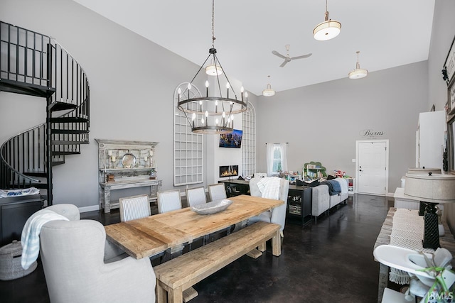
M201 236L223 230L284 203L282 200L245 194L229 199L232 204L217 214L197 214L187 207L143 219L107 225L106 237L132 257L148 258L168 248L192 243Z

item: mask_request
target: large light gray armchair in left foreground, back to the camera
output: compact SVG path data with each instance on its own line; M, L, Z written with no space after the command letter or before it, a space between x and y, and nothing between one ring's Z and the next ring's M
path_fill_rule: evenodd
M74 210L60 205L48 209L59 214L65 209L68 215ZM105 239L105 228L98 221L44 224L40 253L51 302L155 302L156 277L150 260L128 256L105 263Z

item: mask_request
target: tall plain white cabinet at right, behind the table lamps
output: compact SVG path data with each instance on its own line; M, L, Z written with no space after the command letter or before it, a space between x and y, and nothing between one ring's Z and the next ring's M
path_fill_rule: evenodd
M416 167L442 168L445 119L444 111L429 111L419 114Z

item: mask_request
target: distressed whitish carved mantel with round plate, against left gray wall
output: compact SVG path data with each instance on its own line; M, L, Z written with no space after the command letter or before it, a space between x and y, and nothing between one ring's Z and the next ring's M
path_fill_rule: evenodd
M155 146L158 142L95 139L98 143L100 208L109 213L118 208L111 191L150 187L149 197L156 200L161 180L156 179Z

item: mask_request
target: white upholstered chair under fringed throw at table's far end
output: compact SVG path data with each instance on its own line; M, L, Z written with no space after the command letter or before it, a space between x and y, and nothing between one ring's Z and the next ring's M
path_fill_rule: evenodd
M250 194L255 197L264 197L263 193L259 190L258 182L264 178L253 177L250 180ZM283 236L284 224L286 221L286 209L287 209L287 197L289 192L289 181L285 179L279 180L279 199L284 201L284 204L275 207L272 211L264 211L259 216L255 216L249 219L249 222L265 221L282 226L281 233ZM264 197L267 198L267 197Z

